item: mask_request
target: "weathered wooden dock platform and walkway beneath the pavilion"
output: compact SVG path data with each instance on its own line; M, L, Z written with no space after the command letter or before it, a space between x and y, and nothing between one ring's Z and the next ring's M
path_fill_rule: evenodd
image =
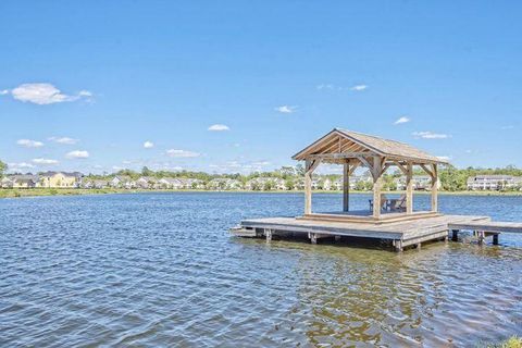
M307 220L299 217L265 217L245 220L231 233L239 237L266 238L308 237L312 244L320 238L339 238L343 236L389 240L396 251L430 240L447 240L449 231L452 239L459 231L474 231L478 243L493 236L498 244L500 232L522 233L522 223L492 222L488 216L437 215L423 219L389 223L343 222L328 220Z

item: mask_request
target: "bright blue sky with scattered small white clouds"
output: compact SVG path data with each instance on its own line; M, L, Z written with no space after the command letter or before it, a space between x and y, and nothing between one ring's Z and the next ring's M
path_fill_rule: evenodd
M2 1L0 159L249 172L295 164L344 127L460 167L522 166L520 13L515 1Z

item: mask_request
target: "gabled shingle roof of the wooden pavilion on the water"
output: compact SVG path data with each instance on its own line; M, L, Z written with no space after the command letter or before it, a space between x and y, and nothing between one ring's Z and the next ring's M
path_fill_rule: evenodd
M296 153L293 159L302 161L321 158L324 162L346 163L347 159L380 156L397 161L414 163L448 163L408 144L384 139L373 135L334 128L319 140Z

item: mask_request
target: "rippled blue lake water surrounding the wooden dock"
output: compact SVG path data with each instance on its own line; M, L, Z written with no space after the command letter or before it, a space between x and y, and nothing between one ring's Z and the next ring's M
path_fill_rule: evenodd
M522 334L522 235L398 254L227 233L302 206L299 194L0 200L0 346L461 347ZM521 197L439 206L522 221ZM314 195L315 211L339 207Z

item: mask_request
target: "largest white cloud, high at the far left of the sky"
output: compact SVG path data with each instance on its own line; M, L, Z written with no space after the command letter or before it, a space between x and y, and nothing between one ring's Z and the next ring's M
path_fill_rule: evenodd
M82 98L90 98L92 94L82 90L76 95L62 94L60 89L51 84L23 84L11 90L2 90L2 94L11 94L14 99L23 102L32 102L39 105L52 104L64 101L75 101Z

